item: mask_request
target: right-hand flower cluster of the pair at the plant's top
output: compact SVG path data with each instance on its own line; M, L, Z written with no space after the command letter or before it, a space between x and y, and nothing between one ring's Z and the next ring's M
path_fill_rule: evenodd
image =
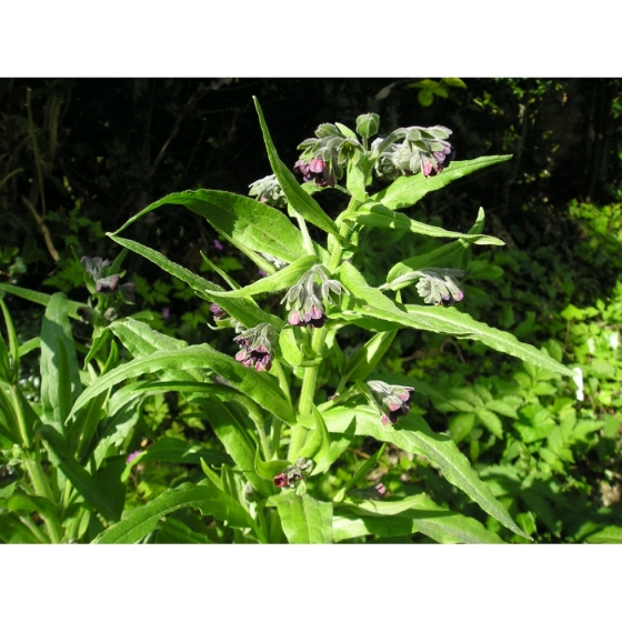
M387 139L372 143L375 171L380 177L397 179L421 171L423 177L435 175L455 157L447 139L451 130L443 126L432 128L400 128ZM403 139L403 142L397 141Z

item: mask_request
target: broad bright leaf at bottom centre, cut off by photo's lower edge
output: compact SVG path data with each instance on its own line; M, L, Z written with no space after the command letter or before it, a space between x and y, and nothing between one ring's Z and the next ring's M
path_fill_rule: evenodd
M291 544L328 544L332 542L332 503L309 494L299 496L283 491L270 498L277 505L283 532Z

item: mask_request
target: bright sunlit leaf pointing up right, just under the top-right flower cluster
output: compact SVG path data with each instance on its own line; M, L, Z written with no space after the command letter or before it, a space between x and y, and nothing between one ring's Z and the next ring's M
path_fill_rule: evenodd
M510 160L510 158L512 158L512 156L484 156L475 160L451 162L442 173L434 177L423 177L420 174L401 177L389 185L389 188L374 194L372 199L391 210L409 208L425 197L428 192L439 190L457 179L461 179L492 164L505 162Z

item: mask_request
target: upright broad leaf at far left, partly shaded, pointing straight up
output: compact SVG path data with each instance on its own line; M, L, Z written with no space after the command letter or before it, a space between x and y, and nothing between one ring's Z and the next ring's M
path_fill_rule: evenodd
M76 347L67 313L67 298L56 293L50 298L41 322L41 403L47 423L64 434L64 420L82 384Z

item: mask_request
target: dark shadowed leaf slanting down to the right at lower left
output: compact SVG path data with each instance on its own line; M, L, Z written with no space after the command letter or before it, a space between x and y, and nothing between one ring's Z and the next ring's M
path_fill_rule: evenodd
M121 513L118 504L111 501L109 494L97 482L96 478L78 463L60 433L51 425L41 425L37 433L46 441L52 462L58 464L67 479L76 486L76 490L84 498L84 501L107 520L119 520Z

